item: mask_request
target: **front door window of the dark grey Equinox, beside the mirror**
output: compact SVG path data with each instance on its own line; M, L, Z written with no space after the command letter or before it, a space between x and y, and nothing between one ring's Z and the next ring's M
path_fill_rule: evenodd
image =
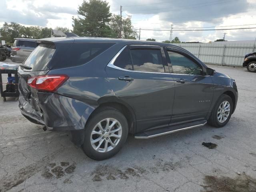
M173 73L202 75L202 68L182 54L168 51Z

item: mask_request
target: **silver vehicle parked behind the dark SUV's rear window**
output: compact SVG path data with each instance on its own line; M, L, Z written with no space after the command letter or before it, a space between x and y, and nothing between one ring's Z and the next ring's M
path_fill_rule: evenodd
M36 39L15 38L12 47L12 62L22 63L36 46Z

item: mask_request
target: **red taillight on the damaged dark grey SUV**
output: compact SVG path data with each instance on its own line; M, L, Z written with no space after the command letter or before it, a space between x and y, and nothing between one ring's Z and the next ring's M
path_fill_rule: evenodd
M28 78L27 84L37 90L54 92L66 80L68 80L66 75L40 75Z

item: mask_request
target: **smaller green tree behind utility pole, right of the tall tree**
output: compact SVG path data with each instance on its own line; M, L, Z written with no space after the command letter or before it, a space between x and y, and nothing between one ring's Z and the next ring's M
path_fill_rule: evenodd
M111 37L112 38L118 38L119 32L120 32L120 15L113 15L111 17L111 20L109 22L109 26L112 30ZM138 37L138 33L133 30L132 16L128 16L126 18L122 18L122 38L124 39L136 39Z

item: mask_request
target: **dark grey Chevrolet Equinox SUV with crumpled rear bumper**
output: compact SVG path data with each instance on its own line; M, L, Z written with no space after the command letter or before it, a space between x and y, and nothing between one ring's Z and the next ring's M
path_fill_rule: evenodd
M235 80L178 46L108 38L47 38L18 70L19 107L31 122L71 139L95 160L128 133L146 139L224 126L236 108Z

